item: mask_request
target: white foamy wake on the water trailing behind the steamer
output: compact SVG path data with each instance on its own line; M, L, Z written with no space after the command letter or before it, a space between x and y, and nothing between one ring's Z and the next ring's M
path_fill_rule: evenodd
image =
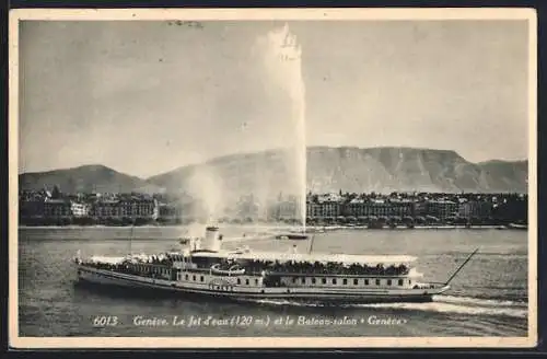
M330 308L333 304L296 302L281 300L249 300L265 305L288 305L288 306L307 306L307 308ZM472 297L435 296L432 302L427 303L373 303L373 304L341 304L337 305L344 309L374 309L385 311L421 311L432 313L454 313L464 315L488 315L488 316L509 316L527 317L527 303L496 300L478 299Z

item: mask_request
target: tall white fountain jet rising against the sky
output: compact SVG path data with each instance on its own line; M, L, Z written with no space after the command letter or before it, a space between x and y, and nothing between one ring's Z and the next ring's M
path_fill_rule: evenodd
M290 97L294 136L288 136L290 162L294 166L298 189L298 212L302 228L306 219L306 138L305 138L305 85L302 77L302 48L289 25L270 31L263 39L263 60L271 85ZM292 171L291 171L292 172Z

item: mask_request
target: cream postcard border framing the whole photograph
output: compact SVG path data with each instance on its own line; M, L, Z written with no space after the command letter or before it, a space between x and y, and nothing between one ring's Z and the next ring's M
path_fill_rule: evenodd
M526 337L21 337L19 335L20 21L446 21L528 22L528 335ZM9 19L9 343L12 348L498 348L537 344L537 15L527 8L444 9L15 9ZM146 340L143 340L146 339Z

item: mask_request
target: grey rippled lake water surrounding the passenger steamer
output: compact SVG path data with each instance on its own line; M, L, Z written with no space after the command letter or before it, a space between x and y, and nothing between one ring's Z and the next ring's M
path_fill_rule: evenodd
M321 306L291 301L218 302L184 296L129 293L75 286L71 258L165 252L177 246L187 228L21 228L19 230L19 313L21 336L526 336L527 233L509 230L338 230L316 234L313 252L408 254L418 257L423 280L444 281L479 247L477 255L431 303ZM190 229L190 231L195 230ZM310 241L252 239L266 228L221 228L226 247L242 244L306 252ZM241 239L245 233L245 239ZM132 238L131 241L128 239ZM240 238L240 239L238 239ZM100 316L116 325L97 327ZM189 320L217 325L139 326L137 316ZM252 317L253 325L228 324ZM290 325L274 325L289 317ZM299 317L315 321L298 325ZM356 320L356 322L345 321ZM396 319L376 325L371 319ZM325 325L325 320L341 321ZM268 321L268 323L266 323ZM270 322L271 321L271 322ZM404 324L401 324L404 322ZM232 322L233 323L233 322ZM96 324L96 323L95 323Z

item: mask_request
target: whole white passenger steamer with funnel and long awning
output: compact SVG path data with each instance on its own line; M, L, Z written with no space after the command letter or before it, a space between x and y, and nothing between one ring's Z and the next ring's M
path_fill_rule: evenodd
M319 302L426 302L450 288L422 282L416 257L221 248L222 235L209 227L189 247L158 255L74 257L78 280L165 290L234 300ZM473 254L472 254L473 255Z

